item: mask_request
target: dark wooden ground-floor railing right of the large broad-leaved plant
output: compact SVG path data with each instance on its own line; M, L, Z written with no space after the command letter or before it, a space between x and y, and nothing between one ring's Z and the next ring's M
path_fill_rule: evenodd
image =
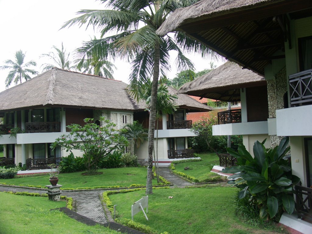
M312 223L312 188L295 186L298 218Z

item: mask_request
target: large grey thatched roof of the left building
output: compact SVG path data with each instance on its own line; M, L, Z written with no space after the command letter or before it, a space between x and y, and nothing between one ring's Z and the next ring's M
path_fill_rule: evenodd
M118 80L53 68L0 93L0 110L43 106L137 110Z

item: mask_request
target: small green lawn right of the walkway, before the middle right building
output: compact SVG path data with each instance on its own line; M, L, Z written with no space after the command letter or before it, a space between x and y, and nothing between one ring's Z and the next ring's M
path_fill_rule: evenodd
M199 157L202 158L202 161L198 162L186 162L186 163L178 163L175 165L175 168L179 172L183 172L187 175L193 176L197 179L202 178L213 178L218 176L218 174L210 172L208 169L208 165L218 165L219 157L215 153L208 154L199 154ZM184 168L189 167L188 170L184 170Z

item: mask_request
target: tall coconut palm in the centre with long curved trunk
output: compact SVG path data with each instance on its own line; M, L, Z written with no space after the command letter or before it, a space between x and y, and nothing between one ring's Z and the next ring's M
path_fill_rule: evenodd
M149 115L148 138L148 173L146 194L152 192L153 144L156 116L156 99L158 79L165 76L170 69L169 51L177 51L176 66L182 71L194 69L193 63L183 51L201 52L205 55L215 55L200 42L187 37L183 32L173 32L164 36L156 34L166 17L175 9L187 7L198 0L101 0L106 3L106 10L81 10L81 16L66 22L62 27L75 24L97 27L101 37L106 33L114 33L101 39L85 42L80 51L80 57L92 57L95 54L106 59L109 55L124 57L131 61L129 90L139 100L144 93L143 84L152 77L152 93Z

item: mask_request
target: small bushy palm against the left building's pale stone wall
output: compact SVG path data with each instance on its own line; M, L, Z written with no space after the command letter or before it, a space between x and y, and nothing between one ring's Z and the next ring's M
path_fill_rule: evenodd
M139 121L133 121L132 124L126 124L124 126L125 131L123 132L124 136L128 139L131 139L133 144L136 145L136 149L139 149L140 144L147 140L148 133L147 129L144 129L142 124ZM134 152L135 154L135 152Z

